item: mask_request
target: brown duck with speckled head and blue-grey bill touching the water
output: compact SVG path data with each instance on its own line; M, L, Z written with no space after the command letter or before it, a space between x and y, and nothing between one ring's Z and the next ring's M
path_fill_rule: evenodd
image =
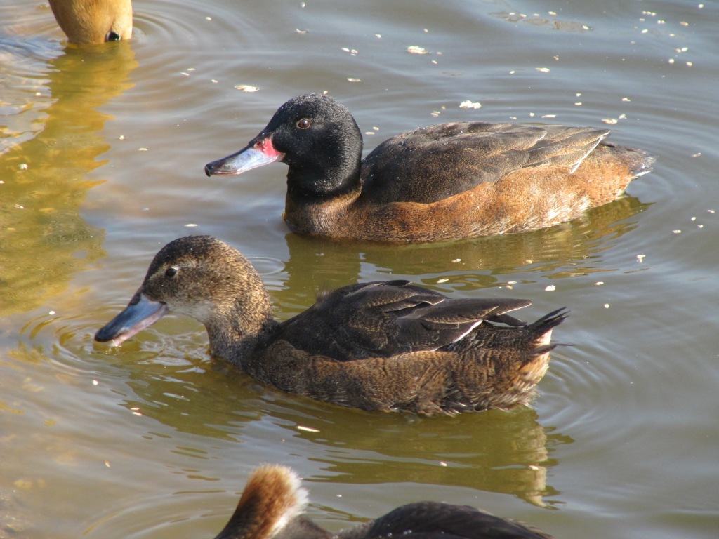
M249 260L210 236L175 239L129 305L97 332L121 344L169 310L196 318L214 356L285 392L431 415L528 402L562 310L525 325L516 299L450 299L408 281L349 285L278 322Z

